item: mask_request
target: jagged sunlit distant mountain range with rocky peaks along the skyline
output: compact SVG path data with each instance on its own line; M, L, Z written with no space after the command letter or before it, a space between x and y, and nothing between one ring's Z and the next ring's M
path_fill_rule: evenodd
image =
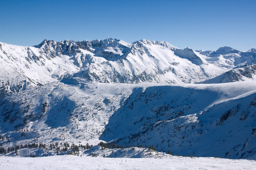
M34 47L0 43L1 89L18 91L53 81L194 83L216 77L255 53L222 47L216 52L180 50L168 42L139 40L43 40Z

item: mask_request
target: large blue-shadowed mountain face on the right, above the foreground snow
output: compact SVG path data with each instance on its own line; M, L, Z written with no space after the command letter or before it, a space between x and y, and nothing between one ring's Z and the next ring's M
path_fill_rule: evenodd
M112 114L100 139L121 146L154 145L186 156L255 157L255 145L247 144L256 140L255 91L227 100L220 99L220 91L199 86L136 89Z

